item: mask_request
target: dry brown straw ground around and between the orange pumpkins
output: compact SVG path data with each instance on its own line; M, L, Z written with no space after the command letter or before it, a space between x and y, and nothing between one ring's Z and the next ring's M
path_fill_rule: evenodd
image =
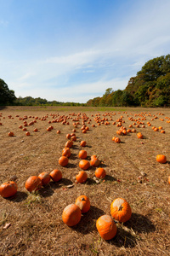
M0 183L15 179L18 184L13 198L0 198L0 255L170 255L170 185L167 183L170 123L166 119L170 117L169 109L8 107L0 112L3 124L0 125ZM58 160L67 141L65 135L72 132L77 113L81 113L80 117L86 113L91 119L89 131L82 133L80 119L69 164L61 167ZM110 125L97 125L95 114L108 119ZM26 131L19 128L23 125L20 118L25 115L27 122L38 117L37 123L27 126L31 133L28 137ZM145 128L141 125L133 128L143 133L143 140L135 133L128 133L120 136L122 143L112 142L118 129L112 125L113 121L123 116L123 125L128 128L134 123L128 118L141 121L141 115ZM47 116L46 120L41 120L43 116ZM52 123L54 130L47 131L48 121L59 116L70 117L70 124ZM92 127L93 124L96 126ZM162 126L165 133L153 131L152 126ZM38 132L33 131L36 127ZM14 131L14 137L8 137L8 131ZM75 182L80 171L81 140L87 142L88 159L97 154L102 160L100 166L104 166L107 173L105 182L95 182L94 167L86 171L86 183ZM167 163L156 162L156 154L167 155ZM50 182L36 194L26 191L28 177L56 168L63 174L60 182ZM77 226L70 228L63 223L61 215L79 195L89 197L91 208ZM110 214L111 201L117 197L129 202L133 214L127 223L116 223L115 238L104 241L96 230L96 220Z

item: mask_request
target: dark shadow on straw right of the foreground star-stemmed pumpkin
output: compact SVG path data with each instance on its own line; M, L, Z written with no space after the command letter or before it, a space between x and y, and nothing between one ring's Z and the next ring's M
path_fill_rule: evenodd
M131 218L124 224L136 233L150 233L156 230L156 227L149 218L139 213L132 213Z

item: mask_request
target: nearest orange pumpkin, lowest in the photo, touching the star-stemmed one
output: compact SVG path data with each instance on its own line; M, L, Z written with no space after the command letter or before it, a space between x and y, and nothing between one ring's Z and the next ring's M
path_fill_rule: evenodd
M116 236L116 224L110 215L102 215L96 222L99 235L105 240L111 240Z

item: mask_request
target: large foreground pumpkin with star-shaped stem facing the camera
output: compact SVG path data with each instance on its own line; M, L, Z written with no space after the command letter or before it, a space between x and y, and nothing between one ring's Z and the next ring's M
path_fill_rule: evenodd
M111 203L111 216L119 222L126 222L131 218L132 210L128 202L123 198L116 198Z

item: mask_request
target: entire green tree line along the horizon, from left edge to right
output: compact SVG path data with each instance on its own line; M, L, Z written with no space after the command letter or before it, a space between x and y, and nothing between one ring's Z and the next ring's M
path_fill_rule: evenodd
M170 107L170 55L162 55L147 61L135 77L129 79L124 90L108 88L103 96L77 102L49 102L31 96L14 96L14 90L0 79L0 105L20 106L108 106L108 107Z

